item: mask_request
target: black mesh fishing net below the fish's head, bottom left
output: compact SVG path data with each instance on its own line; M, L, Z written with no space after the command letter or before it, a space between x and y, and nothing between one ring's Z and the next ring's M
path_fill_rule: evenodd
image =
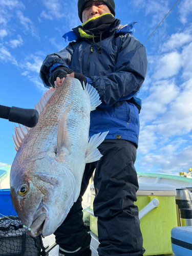
M7 217L0 218L0 256L45 256L41 236L30 237L18 217Z

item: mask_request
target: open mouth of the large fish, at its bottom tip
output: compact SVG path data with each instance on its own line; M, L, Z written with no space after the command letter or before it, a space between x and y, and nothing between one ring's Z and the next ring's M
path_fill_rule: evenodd
M37 237L39 234L43 236L43 234L48 229L47 222L49 222L49 218L47 218L46 214L39 215L31 224L30 230L28 231L31 237ZM46 229L46 230L45 230Z

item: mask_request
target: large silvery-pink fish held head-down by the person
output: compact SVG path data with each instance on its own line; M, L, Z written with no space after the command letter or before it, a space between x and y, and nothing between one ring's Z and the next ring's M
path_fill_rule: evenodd
M35 127L15 127L11 200L30 236L49 236L60 226L79 196L86 163L101 158L97 146L108 132L89 140L90 111L100 103L90 84L67 77L37 103Z

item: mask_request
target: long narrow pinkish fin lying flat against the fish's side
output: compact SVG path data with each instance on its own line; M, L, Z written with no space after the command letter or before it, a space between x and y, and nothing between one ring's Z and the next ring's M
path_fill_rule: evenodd
M58 123L58 132L57 132L57 151L61 151L63 146L67 147L68 150L71 149L71 143L69 138L69 133L67 130L67 115L71 109L73 103L67 108L65 113L62 115Z

